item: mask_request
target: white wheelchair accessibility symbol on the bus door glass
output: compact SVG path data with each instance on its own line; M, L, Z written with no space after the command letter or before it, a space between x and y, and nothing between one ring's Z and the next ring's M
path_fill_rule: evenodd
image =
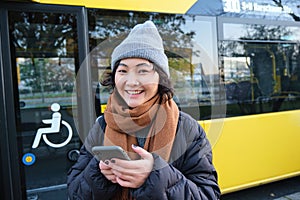
M63 147L71 141L72 135L73 135L72 127L68 124L68 122L61 120L61 114L60 114L59 110L60 110L60 105L58 103L53 103L51 105L51 111L53 112L52 119L42 120L42 122L44 124L49 124L49 127L39 128L37 130L33 144L32 144L33 149L35 149L39 146L41 139L43 139L47 145L49 145L50 147L54 147L54 148ZM60 133L61 125L65 126L68 130L67 139L58 144L50 142L49 139L47 138L47 135L61 134Z

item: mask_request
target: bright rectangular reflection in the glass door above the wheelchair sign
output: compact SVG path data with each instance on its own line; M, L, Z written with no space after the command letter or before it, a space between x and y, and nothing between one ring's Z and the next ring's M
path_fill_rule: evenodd
M23 108L48 107L53 98L70 106L75 82L73 58L17 58ZM34 75L34 76L33 76Z

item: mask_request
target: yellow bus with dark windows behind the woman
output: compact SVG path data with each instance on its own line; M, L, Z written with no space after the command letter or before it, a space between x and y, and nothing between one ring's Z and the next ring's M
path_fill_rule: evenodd
M300 175L297 0L0 3L1 199L67 199L66 176L109 91L111 50L157 25L181 110L206 130L222 194ZM32 143L51 106L59 134Z

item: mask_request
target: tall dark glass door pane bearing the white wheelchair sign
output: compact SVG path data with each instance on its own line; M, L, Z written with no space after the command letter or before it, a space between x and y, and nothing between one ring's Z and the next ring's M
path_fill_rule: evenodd
M67 171L81 146L72 113L78 66L76 16L9 12L9 23L27 196L67 199Z

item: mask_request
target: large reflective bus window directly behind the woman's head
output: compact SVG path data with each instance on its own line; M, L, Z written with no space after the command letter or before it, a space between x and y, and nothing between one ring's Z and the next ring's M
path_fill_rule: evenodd
M175 98L180 108L196 119L212 116L220 88L214 18L158 13L89 10L91 60L95 70L96 113L103 112L109 90L99 84L105 70L110 70L114 47L138 23L151 19L157 25L169 58ZM97 100L98 99L98 100ZM102 106L102 109L100 108ZM200 112L201 111L201 112ZM218 113L218 116L219 113Z

